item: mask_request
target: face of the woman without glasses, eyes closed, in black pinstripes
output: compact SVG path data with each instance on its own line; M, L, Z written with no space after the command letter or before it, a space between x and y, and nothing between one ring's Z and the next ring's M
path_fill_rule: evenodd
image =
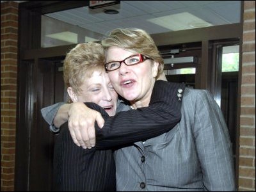
M93 72L92 77L84 79L81 90L77 94L77 102L94 102L104 108L109 116L115 115L118 95L106 72Z

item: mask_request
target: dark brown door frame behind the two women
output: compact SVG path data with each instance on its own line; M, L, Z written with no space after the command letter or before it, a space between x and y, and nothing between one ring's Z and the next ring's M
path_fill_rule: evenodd
M38 67L42 58L58 60L74 45L40 48L41 15L70 8L88 6L89 1L27 1L19 4L19 40L18 40L18 86L17 86L17 134L15 154L15 191L29 191L30 142L31 129L35 129L38 120ZM243 21L243 1L241 1L241 21ZM232 31L232 33L230 33ZM211 28L189 29L152 35L158 46L191 42L202 43L202 66L200 88L211 91L211 41L239 38L242 47L243 22L214 26ZM239 69L242 52L240 51ZM241 70L239 70L239 87ZM240 94L240 89L239 93ZM239 108L239 101L237 101ZM237 109L237 115L239 115ZM239 124L239 122L238 122ZM239 126L237 126L239 127ZM238 132L239 133L239 132ZM237 136L239 138L239 135ZM239 142L237 141L239 144ZM237 153L239 155L239 153ZM238 164L236 165L238 167ZM236 182L238 177L236 175Z

